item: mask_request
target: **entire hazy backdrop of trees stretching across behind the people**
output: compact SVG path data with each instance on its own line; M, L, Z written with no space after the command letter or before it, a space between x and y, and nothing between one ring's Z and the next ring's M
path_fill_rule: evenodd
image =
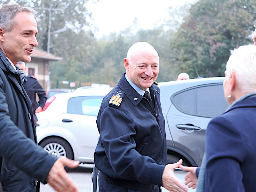
M170 17L154 29L134 24L119 33L96 39L86 3L93 0L16 0L37 11L39 48L47 49L49 11L52 7L50 52L63 59L50 64L52 84L60 81L111 84L124 73L124 57L139 41L152 44L160 58L158 82L175 80L180 72L196 78L223 76L230 50L251 44L256 21L255 0L199 0L169 8ZM10 0L0 0L0 4Z

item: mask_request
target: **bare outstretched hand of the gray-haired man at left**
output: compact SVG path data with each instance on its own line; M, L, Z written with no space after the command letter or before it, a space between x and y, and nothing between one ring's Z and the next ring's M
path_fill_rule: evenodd
M68 173L64 169L65 166L75 168L78 165L79 161L73 161L66 157L60 157L52 165L46 181L58 192L78 192L78 188L68 177Z

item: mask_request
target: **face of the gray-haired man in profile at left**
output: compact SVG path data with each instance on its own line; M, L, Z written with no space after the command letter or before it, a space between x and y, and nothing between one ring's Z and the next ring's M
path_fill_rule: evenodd
M29 62L33 48L38 45L36 40L37 23L28 12L17 13L11 31L0 28L0 48L15 65L18 61Z

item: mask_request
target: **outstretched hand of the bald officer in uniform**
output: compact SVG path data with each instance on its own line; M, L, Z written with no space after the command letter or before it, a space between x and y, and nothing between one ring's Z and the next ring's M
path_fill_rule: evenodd
M168 164L164 168L162 175L163 187L170 192L186 192L188 189L182 182L174 175L173 170L182 164L182 160L174 164Z

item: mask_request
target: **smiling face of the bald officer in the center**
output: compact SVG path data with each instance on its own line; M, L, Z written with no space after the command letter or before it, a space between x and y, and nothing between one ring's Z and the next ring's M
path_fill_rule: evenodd
M129 60L124 59L127 77L142 90L156 80L159 73L159 57L155 50L136 51Z

